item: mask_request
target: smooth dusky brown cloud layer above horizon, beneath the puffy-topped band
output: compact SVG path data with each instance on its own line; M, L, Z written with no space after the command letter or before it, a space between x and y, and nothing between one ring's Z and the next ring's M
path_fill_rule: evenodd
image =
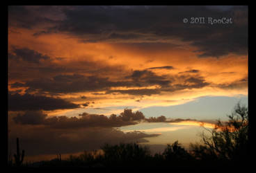
M22 130L20 130L22 128ZM53 129L36 125L12 125L8 135L9 151L15 150L19 137L20 147L26 156L38 154L65 154L100 149L105 143L145 143L159 134L145 134L139 131L124 133L118 129L90 127L81 129Z

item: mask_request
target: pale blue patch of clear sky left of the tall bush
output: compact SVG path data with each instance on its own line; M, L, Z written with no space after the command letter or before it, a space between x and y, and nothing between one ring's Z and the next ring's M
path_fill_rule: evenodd
M240 102L248 107L248 96L237 97L205 96L185 104L170 107L147 107L140 109L145 117L166 116L166 118L191 118L197 120L227 120L234 106Z

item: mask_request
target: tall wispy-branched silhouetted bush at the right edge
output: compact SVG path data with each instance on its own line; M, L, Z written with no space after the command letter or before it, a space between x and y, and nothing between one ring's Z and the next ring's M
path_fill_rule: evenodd
M214 129L202 133L205 146L218 158L239 160L248 154L248 109L238 103L227 122L218 120Z

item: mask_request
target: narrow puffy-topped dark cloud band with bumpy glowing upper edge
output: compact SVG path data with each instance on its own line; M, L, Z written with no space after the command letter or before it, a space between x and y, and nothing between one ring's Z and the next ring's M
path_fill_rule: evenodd
M135 125L136 121L144 120L145 116L141 111L132 112L125 109L120 116L112 114L109 116L81 113L79 118L67 116L48 117L42 111L25 111L13 117L13 120L22 125L46 125L55 129L79 129L84 127L121 127Z

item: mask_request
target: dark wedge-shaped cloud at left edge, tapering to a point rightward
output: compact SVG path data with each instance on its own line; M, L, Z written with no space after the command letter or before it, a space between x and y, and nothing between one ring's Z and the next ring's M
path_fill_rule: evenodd
M54 110L54 109L74 109L78 108L79 104L67 102L61 98L50 98L42 95L30 95L19 93L8 93L8 110L9 111L24 111L24 110Z

